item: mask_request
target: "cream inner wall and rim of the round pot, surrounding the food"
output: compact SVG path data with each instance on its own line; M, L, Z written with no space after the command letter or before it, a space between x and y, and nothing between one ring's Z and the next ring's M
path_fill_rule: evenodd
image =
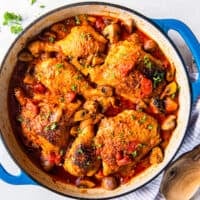
M121 18L124 21L133 19L136 23L136 26L144 31L147 35L149 35L152 39L154 39L159 44L165 55L168 57L169 61L175 65L176 80L181 86L179 95L180 108L178 112L177 127L174 130L168 147L166 148L163 162L148 168L146 171L133 178L129 183L120 186L114 191L107 191L103 189L77 189L71 185L55 182L50 176L48 176L42 170L38 169L38 167L35 166L31 160L27 158L26 154L19 146L9 122L7 109L8 84L16 63L18 52L23 48L24 44L27 40L29 40L29 38L37 35L45 27L48 27L51 24L63 20L67 17L78 14L110 15L112 17ZM172 44L168 41L168 39L157 28L155 28L155 26L153 26L138 14L128 10L123 10L123 8L99 4L79 4L74 7L66 6L45 15L30 27L28 27L27 30L25 30L25 32L23 32L21 36L15 41L2 65L0 74L0 108L0 129L3 140L10 153L17 161L17 163L23 168L23 170L28 172L31 177L33 177L42 185L45 185L59 193L78 198L98 199L117 196L141 187L145 183L149 182L152 178L154 178L169 163L169 161L171 161L183 140L187 128L187 123L190 116L191 97L186 71L179 55L173 48Z

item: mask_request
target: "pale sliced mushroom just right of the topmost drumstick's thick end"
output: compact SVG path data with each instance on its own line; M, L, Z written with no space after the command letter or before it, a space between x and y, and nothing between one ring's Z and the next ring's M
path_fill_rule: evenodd
M106 36L110 43L116 43L119 40L120 26L117 23L106 26L103 30L103 35Z

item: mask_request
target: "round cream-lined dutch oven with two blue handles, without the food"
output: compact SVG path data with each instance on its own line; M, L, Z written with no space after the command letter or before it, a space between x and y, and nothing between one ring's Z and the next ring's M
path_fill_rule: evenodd
M179 94L180 108L177 118L177 127L173 132L169 145L165 151L165 157L162 163L148 168L140 175L133 178L127 184L121 185L114 191L107 191L102 188L97 189L80 189L62 182L55 182L50 176L39 169L28 158L17 141L8 114L8 85L13 68L17 61L17 54L24 47L26 42L41 32L51 24L66 19L70 16L79 14L110 15L121 18L126 21L132 18L137 27L154 39L169 61L176 66L176 80L181 86ZM173 19L152 20L134 10L118 5L108 3L85 2L66 5L55 9L28 26L13 42L8 50L0 72L0 130L2 140L7 147L10 155L21 167L22 171L19 176L12 176L0 165L1 178L11 184L40 184L60 194L85 199L103 199L112 198L130 193L155 178L173 159L178 151L186 133L188 121L191 113L192 101L195 101L200 93L200 78L190 83L186 72L186 66L183 63L180 54L167 36L167 32L174 29L185 39L189 49L198 66L200 72L200 45L190 31L190 29L180 21Z

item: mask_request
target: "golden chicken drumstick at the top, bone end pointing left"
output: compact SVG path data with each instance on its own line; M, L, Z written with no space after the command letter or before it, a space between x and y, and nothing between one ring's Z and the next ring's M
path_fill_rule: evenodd
M107 40L91 26L82 25L73 27L65 38L55 43L34 41L28 48L35 56L43 51L61 51L70 58L78 59L102 53L106 43Z

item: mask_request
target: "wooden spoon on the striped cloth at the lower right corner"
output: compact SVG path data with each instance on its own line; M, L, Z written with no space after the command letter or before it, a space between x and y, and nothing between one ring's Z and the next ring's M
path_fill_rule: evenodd
M183 154L165 171L160 192L167 200L189 200L200 187L200 145Z

